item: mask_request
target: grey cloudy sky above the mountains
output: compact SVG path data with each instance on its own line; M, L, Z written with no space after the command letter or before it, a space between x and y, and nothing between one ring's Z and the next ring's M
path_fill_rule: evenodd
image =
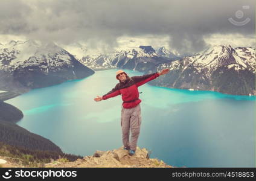
M254 0L1 0L0 42L139 45L199 52L209 45L255 46Z

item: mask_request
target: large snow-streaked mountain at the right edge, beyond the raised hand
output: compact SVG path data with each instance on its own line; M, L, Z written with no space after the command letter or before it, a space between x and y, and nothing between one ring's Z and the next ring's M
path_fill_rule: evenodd
M158 65L158 71L169 68L171 72L152 81L152 84L234 95L256 95L255 64L255 48L213 46L195 56Z

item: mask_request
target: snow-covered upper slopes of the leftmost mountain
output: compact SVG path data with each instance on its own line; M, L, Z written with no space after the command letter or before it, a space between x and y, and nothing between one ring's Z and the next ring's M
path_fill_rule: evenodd
M0 46L0 69L5 71L13 71L18 66L39 65L41 68L49 68L65 64L71 65L69 52L53 42L39 45L34 40L12 40Z

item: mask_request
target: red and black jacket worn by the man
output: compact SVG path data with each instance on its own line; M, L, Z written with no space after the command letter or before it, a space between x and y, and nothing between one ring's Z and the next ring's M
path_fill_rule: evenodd
M138 87L147 83L150 80L159 77L158 72L142 76L127 77L124 82L120 81L117 85L110 90L107 94L103 95L103 100L122 95L123 107L132 108L141 103L139 99Z

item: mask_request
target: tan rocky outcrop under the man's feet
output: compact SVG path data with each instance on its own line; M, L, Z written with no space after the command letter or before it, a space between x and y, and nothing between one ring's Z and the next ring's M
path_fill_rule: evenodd
M128 151L121 147L117 150L95 151L94 155L85 156L74 162L53 162L46 164L45 167L173 168L162 160L150 159L149 151L139 147L136 148L136 153L133 156L130 156Z

